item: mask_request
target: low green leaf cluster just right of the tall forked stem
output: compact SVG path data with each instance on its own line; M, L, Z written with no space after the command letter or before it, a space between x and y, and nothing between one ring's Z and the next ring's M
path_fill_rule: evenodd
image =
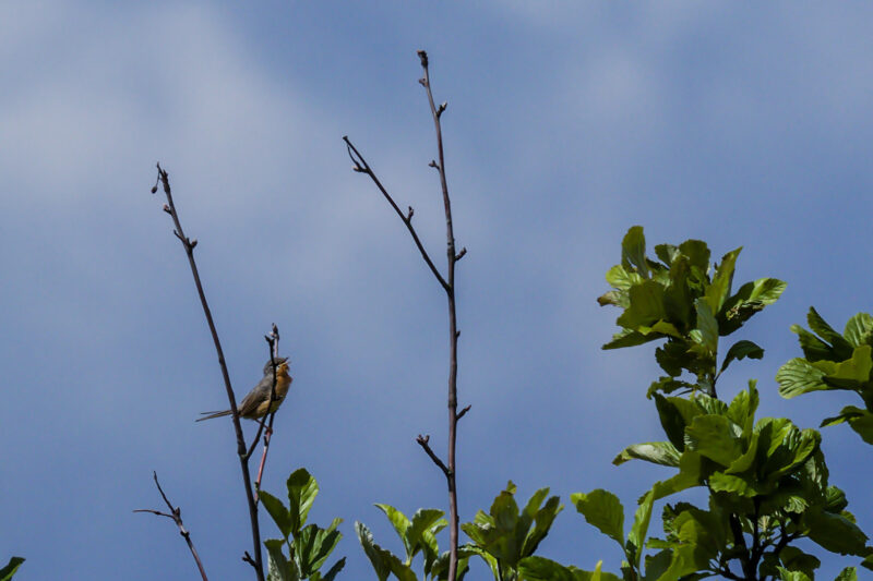
M518 564L534 555L564 508L559 497L547 499L549 488L540 488L519 510L515 491L515 484L510 482L494 498L488 515L480 510L473 522L461 525L473 541L465 548L479 555L491 568L494 579L501 581L521 579Z

